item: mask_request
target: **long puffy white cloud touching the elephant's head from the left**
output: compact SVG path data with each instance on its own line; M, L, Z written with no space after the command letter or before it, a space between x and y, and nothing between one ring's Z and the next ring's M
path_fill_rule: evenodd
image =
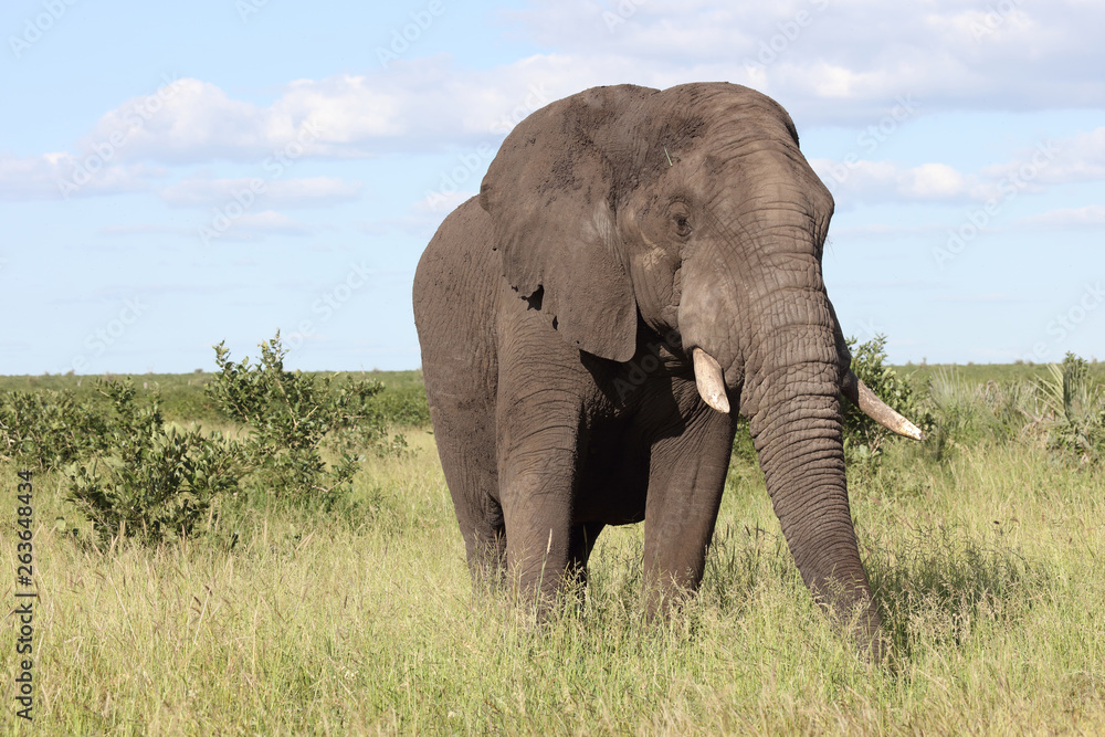
M464 72L435 56L397 62L387 73L297 80L267 106L185 78L168 87L155 112L146 109L146 97L127 101L77 147L92 151L115 139L119 159L260 164L282 152L357 158L497 140L529 113L577 91L548 85L569 78L568 66L569 60L543 56Z

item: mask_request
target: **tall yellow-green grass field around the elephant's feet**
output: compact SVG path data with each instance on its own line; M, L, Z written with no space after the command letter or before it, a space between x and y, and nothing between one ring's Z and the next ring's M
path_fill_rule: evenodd
M196 379L158 381L168 402ZM939 459L932 441L894 441L850 470L894 642L872 666L812 604L748 461L730 470L703 589L672 621L641 623L631 526L603 533L587 597L538 628L473 593L433 436L404 432L408 452L369 457L325 512L246 506L156 549L74 536L61 476L36 474L36 730L1105 733L1099 463L983 435ZM0 464L11 518L17 471ZM14 735L7 620L0 731Z

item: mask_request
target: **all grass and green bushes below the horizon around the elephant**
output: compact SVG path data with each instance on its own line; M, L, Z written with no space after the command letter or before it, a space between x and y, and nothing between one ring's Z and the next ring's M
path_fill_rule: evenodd
M0 379L0 549L34 482L44 734L1101 734L1101 366L860 377L924 443L845 419L887 633L860 660L790 559L738 435L701 592L641 621L640 526L536 624L473 592L418 372ZM9 522L10 520L10 522ZM13 534L14 530L14 534ZM15 618L0 631L4 734Z

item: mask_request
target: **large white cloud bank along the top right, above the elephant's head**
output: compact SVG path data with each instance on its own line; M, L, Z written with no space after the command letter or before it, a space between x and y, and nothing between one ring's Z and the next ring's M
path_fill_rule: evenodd
M1105 6L1078 0L536 0L509 17L583 67L610 56L633 61L623 81L641 84L750 82L807 124L863 122L906 92L933 110L1105 104Z

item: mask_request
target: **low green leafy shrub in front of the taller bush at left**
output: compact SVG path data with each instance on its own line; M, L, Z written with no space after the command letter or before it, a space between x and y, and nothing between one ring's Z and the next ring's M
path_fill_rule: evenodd
M158 392L139 402L129 378L97 383L112 402L112 414L99 418L110 452L66 468L69 501L104 539L157 543L191 534L215 498L238 485L233 444L166 431Z

